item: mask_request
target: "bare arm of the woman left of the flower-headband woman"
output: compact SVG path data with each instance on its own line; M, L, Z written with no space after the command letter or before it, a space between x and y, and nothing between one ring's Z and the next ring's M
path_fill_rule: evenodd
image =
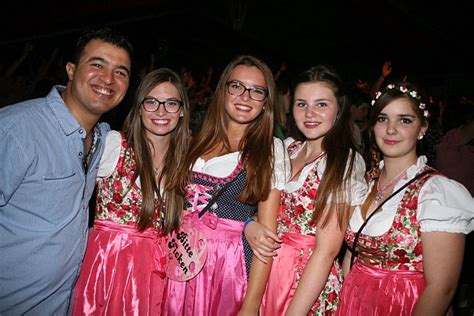
M318 228L316 232L316 249L306 264L286 315L307 315L324 288L334 259L341 249L346 225L339 227L335 209L326 210L325 213L329 221L326 227ZM324 218L320 220L323 221Z

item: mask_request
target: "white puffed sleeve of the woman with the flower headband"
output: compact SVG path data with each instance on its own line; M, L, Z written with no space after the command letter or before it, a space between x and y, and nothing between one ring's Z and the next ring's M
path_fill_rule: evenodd
M417 216L422 232L469 234L474 230L474 199L461 183L433 176L420 190Z

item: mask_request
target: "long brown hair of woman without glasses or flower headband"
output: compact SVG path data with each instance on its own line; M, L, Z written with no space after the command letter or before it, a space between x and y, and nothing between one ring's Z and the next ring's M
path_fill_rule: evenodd
M344 89L344 83L339 74L330 66L318 65L303 71L295 78L294 87L300 84L321 82L334 93L338 111L334 126L324 136L322 149L326 152L326 169L321 177L318 196L314 202L312 221L321 227L327 225L329 216L323 213L331 197L331 206L336 209L339 227L343 227L349 218L348 201L350 201L350 179L356 156L356 146L350 133L350 103ZM291 115L292 124L294 117ZM293 135L296 139L305 140L299 133ZM349 161L349 164L347 162ZM323 217L324 216L324 217Z

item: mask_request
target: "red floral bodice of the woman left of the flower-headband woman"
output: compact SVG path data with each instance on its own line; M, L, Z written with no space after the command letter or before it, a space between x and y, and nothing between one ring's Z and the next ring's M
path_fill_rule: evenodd
M296 141L288 147L292 156L304 143ZM310 170L303 185L294 192L283 190L280 198L280 209L278 210L278 234L298 233L315 236L316 225L311 221L314 212L314 200L316 199L319 183L317 169L324 156L318 158Z

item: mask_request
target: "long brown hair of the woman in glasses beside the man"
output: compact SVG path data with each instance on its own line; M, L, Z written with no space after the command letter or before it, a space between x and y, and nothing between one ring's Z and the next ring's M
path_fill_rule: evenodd
M145 128L140 115L143 99L150 91L163 82L169 82L178 89L183 106L183 116L179 118L178 125L171 133L168 150L165 153L164 167L157 179L153 168L151 143L146 136ZM132 183L140 177L142 192L142 207L137 227L144 230L152 225L155 212L160 212L163 217L163 235L176 229L180 224L183 209L183 196L179 190L181 180L178 170L182 169L188 148L189 131L189 101L180 77L168 68L160 68L148 73L135 94L132 109L124 123L129 148L135 154L136 172ZM163 194L160 193L160 183L163 184ZM158 197L158 209L157 201Z

